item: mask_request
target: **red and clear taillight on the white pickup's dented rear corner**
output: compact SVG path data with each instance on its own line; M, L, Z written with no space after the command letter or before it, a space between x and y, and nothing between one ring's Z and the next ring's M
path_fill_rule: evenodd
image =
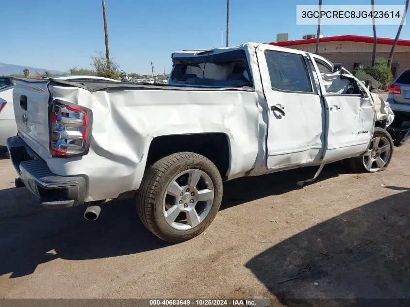
M87 154L91 119L91 110L54 100L50 113L50 153L58 157Z

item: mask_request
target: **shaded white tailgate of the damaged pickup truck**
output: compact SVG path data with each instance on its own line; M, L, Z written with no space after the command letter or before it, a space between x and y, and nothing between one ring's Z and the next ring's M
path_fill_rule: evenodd
M18 135L43 159L50 157L48 83L16 79L13 90Z

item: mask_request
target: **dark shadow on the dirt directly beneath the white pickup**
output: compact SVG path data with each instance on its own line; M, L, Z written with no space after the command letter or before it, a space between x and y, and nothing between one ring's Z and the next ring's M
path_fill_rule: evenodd
M224 184L221 210L268 195L300 189L316 167L239 178ZM343 165L325 167L318 181L345 173ZM252 193L249 193L249 192ZM85 221L84 206L46 210L26 188L0 190L0 275L29 275L37 265L56 258L82 260L136 254L168 246L140 222L133 200L102 206L97 221ZM54 252L54 251L55 252Z

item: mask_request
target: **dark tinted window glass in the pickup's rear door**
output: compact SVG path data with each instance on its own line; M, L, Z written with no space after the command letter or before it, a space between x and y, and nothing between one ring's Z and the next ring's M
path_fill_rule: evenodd
M265 50L273 90L312 93L305 59L301 54Z

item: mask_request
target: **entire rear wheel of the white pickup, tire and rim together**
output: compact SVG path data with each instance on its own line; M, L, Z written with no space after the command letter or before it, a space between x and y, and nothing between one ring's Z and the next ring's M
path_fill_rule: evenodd
M167 242L183 242L204 231L222 201L222 179L204 156L180 152L152 164L138 192L138 215Z

